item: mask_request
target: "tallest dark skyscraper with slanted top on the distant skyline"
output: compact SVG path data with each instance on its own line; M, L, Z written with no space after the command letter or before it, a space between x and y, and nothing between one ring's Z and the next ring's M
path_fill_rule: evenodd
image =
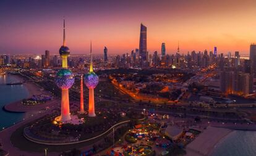
M142 23L140 24L140 45L139 45L140 57L143 61L147 59L147 27Z

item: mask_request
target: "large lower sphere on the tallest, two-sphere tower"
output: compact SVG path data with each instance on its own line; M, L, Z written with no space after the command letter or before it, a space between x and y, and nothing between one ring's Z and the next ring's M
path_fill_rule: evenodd
M75 78L69 69L61 69L56 75L55 83L61 89L69 89L74 84Z

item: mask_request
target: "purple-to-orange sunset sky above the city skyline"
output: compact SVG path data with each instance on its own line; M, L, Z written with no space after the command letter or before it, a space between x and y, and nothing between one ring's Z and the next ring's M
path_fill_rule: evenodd
M256 1L0 1L0 54L58 54L62 20L71 54L123 54L139 47L140 23L147 27L148 51L174 54L239 51L256 43Z

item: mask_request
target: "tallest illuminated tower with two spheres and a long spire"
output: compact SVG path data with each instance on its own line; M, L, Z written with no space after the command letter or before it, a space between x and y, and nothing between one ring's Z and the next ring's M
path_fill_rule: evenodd
M69 47L66 46L65 19L63 25L63 45L59 49L59 55L62 57L62 69L56 75L56 84L61 88L61 122L71 120L69 113L69 88L74 84L75 78L72 72L67 68L67 57L69 56Z

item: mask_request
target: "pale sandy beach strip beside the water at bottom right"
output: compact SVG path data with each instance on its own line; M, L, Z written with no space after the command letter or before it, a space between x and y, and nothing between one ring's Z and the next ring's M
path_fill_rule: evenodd
M233 130L208 126L203 133L186 146L187 156L210 155L216 144Z

